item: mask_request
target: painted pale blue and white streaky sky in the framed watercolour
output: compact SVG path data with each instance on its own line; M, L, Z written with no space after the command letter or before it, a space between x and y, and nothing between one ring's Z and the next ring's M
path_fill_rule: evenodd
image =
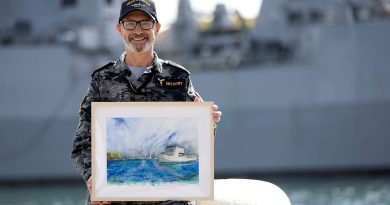
M107 150L161 153L177 144L198 153L197 118L108 118Z

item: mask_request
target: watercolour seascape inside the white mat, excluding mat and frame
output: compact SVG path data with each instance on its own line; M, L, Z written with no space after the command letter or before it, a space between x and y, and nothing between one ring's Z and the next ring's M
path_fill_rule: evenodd
M197 118L107 119L107 182L198 184Z

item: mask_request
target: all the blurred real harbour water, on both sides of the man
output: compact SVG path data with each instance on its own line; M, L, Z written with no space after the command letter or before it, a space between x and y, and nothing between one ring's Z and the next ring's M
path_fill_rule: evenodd
M390 205L389 176L272 177L292 205ZM83 184L0 187L0 205L82 205Z

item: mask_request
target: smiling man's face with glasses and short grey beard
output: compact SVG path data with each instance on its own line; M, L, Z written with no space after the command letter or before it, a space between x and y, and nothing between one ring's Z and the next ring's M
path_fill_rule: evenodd
M152 21L152 18L142 11L128 13L122 21ZM122 24L117 24L116 29L121 34L126 51L143 53L153 50L156 35L160 30L160 24L155 23L152 29L144 30L139 24L133 30L126 30Z

